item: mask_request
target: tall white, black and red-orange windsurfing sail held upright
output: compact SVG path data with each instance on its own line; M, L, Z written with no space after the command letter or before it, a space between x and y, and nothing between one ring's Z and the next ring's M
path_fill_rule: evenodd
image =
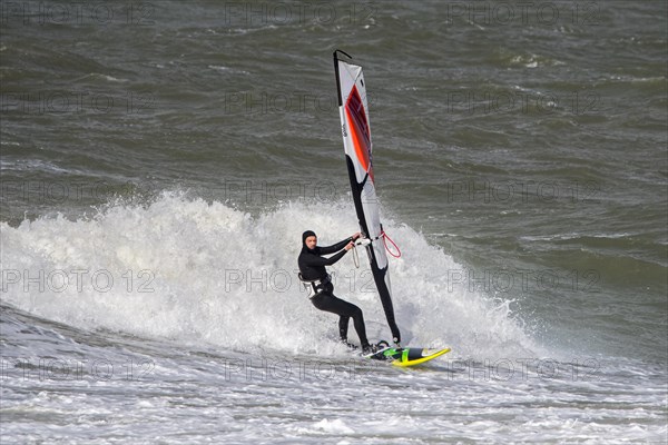
M342 59L342 57L345 57ZM373 176L369 102L362 67L351 63L352 57L341 50L334 51L334 71L338 90L338 113L343 134L343 147L351 179L355 211L361 231L372 243L366 246L373 278L379 289L385 317L394 343L401 335L394 319L387 256L383 243L383 226L379 210Z

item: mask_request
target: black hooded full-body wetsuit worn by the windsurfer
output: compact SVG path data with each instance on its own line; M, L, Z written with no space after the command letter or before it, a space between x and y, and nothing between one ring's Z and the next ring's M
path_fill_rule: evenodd
M322 284L317 288L317 294L311 298L311 303L313 303L313 306L321 310L338 315L338 334L341 336L341 340L344 343L347 343L348 320L353 318L355 330L360 337L362 348L369 348L369 340L366 339L366 329L364 328L364 316L362 315L362 309L352 303L344 301L343 299L334 296L334 286L326 279L327 271L325 270L325 266L332 266L334 263L343 258L346 253L346 250L343 250L343 248L350 241L352 241L353 238L346 238L333 246L316 246L314 249L306 247L306 244L304 243L305 239L306 236L303 236L302 253L297 259L302 278L305 280L326 280L326 283ZM335 251L338 253L330 258L324 258L321 256L334 254Z

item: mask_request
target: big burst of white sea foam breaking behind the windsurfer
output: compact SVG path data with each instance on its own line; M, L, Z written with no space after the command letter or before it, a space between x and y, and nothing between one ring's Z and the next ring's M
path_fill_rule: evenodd
M165 194L116 204L88 219L2 227L4 301L85 329L111 329L239 350L338 350L336 317L316 310L296 278L301 233L321 244L357 230L350 206L287 204L257 217L220 202ZM404 343L456 356L537 353L507 300L471 290L465 269L412 228L385 228L395 315ZM362 307L370 336L387 338L371 271L352 255L332 268L336 294ZM351 324L350 337L356 340Z

